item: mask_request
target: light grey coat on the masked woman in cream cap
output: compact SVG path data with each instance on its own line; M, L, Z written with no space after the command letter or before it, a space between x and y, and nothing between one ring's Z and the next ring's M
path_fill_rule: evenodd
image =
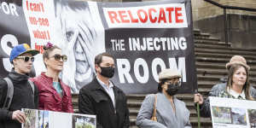
M156 118L151 120L154 110L154 94L146 96L137 115L137 126L140 128L191 128L189 122L189 110L184 102L176 97L173 102L176 113L172 109L171 102L163 93L157 93Z

